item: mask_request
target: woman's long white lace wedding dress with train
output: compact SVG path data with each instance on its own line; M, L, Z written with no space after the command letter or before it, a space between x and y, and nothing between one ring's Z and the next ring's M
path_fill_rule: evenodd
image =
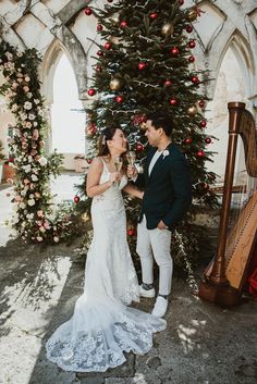
M109 179L103 163L100 183ZM73 317L47 342L47 357L65 371L106 371L125 361L123 351L146 354L152 333L166 321L126 307L138 301L138 283L126 241L126 219L120 186L93 198L94 238L87 255L85 290Z

